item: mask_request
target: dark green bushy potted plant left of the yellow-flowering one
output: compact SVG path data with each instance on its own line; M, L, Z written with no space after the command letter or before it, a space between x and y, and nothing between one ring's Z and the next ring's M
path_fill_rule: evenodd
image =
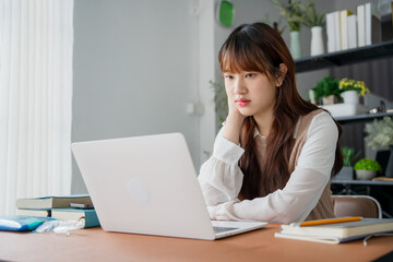
M322 98L323 105L332 105L338 102L340 88L338 79L325 76L312 88L314 98Z

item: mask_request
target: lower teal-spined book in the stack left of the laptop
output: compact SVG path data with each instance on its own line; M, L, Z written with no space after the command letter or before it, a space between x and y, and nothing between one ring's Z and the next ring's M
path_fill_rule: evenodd
M58 221L81 221L85 228L99 226L97 213L93 209L53 209L51 217Z

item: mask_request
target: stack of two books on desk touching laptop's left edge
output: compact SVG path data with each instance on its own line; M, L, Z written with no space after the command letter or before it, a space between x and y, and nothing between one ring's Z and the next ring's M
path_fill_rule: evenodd
M16 207L17 215L81 221L85 228L99 226L97 214L87 194L19 199Z

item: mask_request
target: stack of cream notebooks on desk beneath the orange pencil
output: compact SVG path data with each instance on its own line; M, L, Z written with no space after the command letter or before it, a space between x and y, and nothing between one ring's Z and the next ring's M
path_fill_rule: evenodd
M314 242L341 243L382 233L393 233L393 219L362 218L356 222L317 226L282 225L281 231L276 233L275 237Z

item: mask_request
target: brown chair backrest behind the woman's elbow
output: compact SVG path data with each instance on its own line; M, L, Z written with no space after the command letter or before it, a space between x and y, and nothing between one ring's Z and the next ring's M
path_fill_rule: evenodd
M382 218L380 203L369 195L332 195L334 215Z

